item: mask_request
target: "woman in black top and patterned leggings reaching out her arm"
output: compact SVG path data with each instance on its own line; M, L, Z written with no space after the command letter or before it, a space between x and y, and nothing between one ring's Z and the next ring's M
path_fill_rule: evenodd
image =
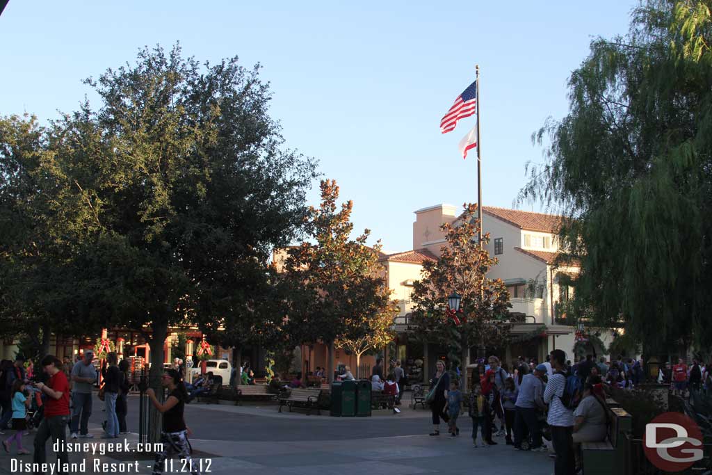
M153 407L163 414L160 440L162 450L156 453L156 461L153 464L152 473L153 475L162 474L164 461L169 455L178 454L182 466L192 469L191 473L193 475L200 475L198 464L194 464L190 456L192 449L188 442L189 429L183 417L188 393L185 390L180 373L174 369L166 370L161 377L161 385L168 390L168 398L163 403L157 400L156 393L152 387L146 390L146 395Z

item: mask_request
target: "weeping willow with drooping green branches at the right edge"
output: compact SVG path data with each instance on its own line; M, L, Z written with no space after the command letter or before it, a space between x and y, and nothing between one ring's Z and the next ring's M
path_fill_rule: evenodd
M519 196L568 218L577 316L646 353L712 336L711 4L643 1L627 35L592 41L568 115L533 135L544 162Z

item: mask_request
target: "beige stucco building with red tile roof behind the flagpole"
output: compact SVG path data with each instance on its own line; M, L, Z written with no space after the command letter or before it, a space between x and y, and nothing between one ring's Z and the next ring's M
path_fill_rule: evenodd
M381 261L387 271L387 282L392 298L397 299L400 313L396 319L397 355L405 362L407 371L426 375L431 372L436 359L444 356L444 349L434 345L414 342L409 329L410 299L414 281L422 278L422 265L436 259L446 245L440 226L454 223L461 209L449 204L418 209L413 223L413 250L383 256ZM575 263L555 266L558 251L556 230L560 216L523 212L514 209L483 207L483 233L490 234L486 248L498 259L488 274L501 278L510 293L512 313L523 315L525 323L514 325L515 343L508 348L471 349L471 357L483 351L498 351L506 362L517 356L545 359L550 350L565 350L573 360L575 330L573 326L560 325L555 318L555 307L567 299L572 289L560 283L565 274L579 271ZM609 330L599 330L604 345L612 340ZM595 348L598 356L602 348ZM482 355L479 355L482 356Z

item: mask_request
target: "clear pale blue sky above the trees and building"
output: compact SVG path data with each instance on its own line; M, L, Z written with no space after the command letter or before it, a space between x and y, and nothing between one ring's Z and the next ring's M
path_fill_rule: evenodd
M286 145L337 180L354 202L356 230L406 251L414 210L476 202L476 162L457 150L474 118L439 130L475 63L483 203L512 207L525 162L541 160L531 133L565 115L570 72L592 38L627 31L636 4L10 0L0 16L0 114L70 112L89 93L83 78L132 61L145 45L180 41L200 61L259 62Z

